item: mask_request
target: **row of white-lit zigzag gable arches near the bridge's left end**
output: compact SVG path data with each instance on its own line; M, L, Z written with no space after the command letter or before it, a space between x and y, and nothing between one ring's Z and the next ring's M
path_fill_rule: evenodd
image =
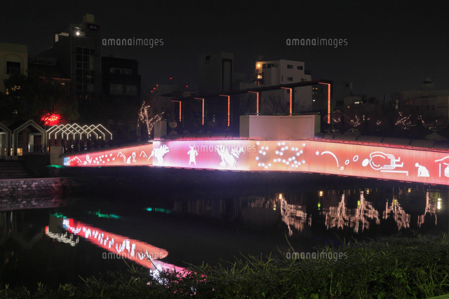
M112 140L112 133L102 125L83 125L82 127L76 123L74 123L73 125L54 125L47 130L47 134L48 139L51 139L52 134L55 139L58 137L58 134L61 134L62 139L64 139L65 136L67 140L69 140L70 135L72 135L73 139L76 138L76 135L79 136L79 139L82 139L84 134L86 139L89 139L89 137L91 137L91 135L93 134L95 135L96 139L98 139L98 137L102 135L103 140L105 140L106 136L108 135Z

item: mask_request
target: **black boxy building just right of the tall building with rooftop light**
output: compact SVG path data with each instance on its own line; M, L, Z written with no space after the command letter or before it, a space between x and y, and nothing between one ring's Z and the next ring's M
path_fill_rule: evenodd
M137 60L102 57L102 92L109 101L121 98L140 102L140 75Z

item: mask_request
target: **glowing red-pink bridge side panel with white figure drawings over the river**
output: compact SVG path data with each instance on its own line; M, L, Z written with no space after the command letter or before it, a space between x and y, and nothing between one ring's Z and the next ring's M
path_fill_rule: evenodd
M449 144L441 141L321 133L303 139L176 138L65 156L63 165L302 172L449 185Z

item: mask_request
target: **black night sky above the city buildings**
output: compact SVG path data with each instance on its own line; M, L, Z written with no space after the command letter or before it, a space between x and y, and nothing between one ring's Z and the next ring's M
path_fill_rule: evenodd
M436 89L449 90L448 8L321 1L3 0L0 41L25 44L29 55L36 55L53 44L56 30L91 13L102 39L163 39L163 46L153 48L102 48L102 55L138 60L144 94L170 77L196 90L199 55L225 51L234 53L234 70L248 78L259 55L298 60L312 79L351 81L354 92L380 100L385 94L389 101L391 92L418 90L425 76ZM347 46L286 45L286 39L316 38L347 39Z

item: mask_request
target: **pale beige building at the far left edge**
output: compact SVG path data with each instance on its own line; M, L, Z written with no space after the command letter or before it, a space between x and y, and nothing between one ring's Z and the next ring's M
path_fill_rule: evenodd
M0 43L0 92L6 92L4 80L12 74L28 75L28 47Z

